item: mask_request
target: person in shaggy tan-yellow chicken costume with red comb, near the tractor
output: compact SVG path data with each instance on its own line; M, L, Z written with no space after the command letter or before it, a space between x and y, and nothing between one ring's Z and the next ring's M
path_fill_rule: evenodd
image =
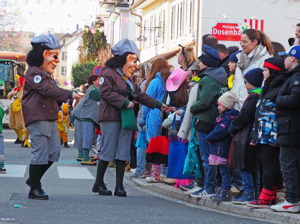
M24 126L24 119L21 108L23 95L23 86L25 79L19 75L15 76L16 87L7 95L10 101L8 125L17 134L15 144L21 144L21 147L31 147L28 143L29 132ZM23 135L24 134L24 135Z

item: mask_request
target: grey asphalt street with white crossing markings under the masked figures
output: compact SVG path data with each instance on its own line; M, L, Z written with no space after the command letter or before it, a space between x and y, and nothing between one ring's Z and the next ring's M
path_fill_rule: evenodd
M166 199L135 186L126 178L127 197L92 193L97 167L82 166L76 162L77 150L71 144L70 149L61 148L60 161L54 163L42 178L49 200L28 199L29 187L25 180L29 172L30 149L13 143L16 139L13 130L4 129L3 134L7 174L0 174L0 224L268 223ZM73 140L73 132L69 133L70 140ZM115 169L107 171L104 180L107 188L114 191Z

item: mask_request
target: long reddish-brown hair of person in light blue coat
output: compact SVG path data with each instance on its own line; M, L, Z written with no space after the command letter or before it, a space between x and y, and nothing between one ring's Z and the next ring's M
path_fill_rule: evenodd
M158 72L161 73L161 79L163 80L165 86L167 79L170 76L170 71L168 61L162 57L159 57L152 62L149 78L147 79L144 92L147 91L149 83L155 78L155 75Z

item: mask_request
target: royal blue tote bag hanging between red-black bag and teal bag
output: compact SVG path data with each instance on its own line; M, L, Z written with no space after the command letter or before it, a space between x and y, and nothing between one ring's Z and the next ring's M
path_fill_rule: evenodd
M172 134L170 138L167 178L193 179L193 176L183 174L184 161L188 152L188 142L181 142L181 138L179 138L179 141L173 140L175 121L176 115L173 119Z

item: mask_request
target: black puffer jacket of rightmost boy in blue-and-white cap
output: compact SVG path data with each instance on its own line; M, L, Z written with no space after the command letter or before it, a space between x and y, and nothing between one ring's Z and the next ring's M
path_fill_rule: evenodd
M299 146L300 139L300 65L284 74L275 107L277 145Z

